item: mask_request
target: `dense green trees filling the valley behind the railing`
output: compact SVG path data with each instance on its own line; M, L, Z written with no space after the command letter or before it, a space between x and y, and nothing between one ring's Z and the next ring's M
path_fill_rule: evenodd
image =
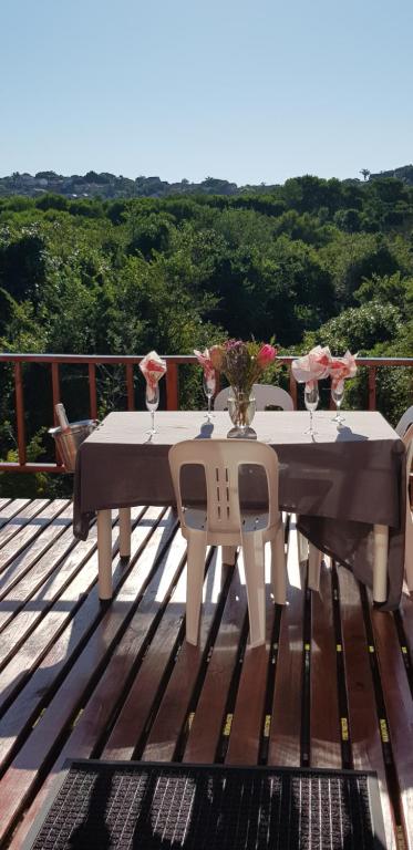
M334 353L411 356L412 304L413 188L394 178L306 176L230 197L0 199L2 351L174 354L254 335L275 336L283 352L320 342ZM365 377L349 394L360 406ZM48 376L27 367L24 381L30 450L45 457ZM62 381L71 417L86 415L79 370ZM6 367L0 382L4 458L16 450ZM184 405L199 404L198 386L188 370ZM393 422L411 392L411 370L379 376L379 405ZM123 393L122 375L102 370L101 413Z

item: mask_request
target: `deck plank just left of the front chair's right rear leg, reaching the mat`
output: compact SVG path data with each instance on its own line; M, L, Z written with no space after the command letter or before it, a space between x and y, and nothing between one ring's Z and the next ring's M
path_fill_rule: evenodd
M220 740L228 691L247 614L247 593L236 567L215 639L203 690L190 724L183 761L214 763Z

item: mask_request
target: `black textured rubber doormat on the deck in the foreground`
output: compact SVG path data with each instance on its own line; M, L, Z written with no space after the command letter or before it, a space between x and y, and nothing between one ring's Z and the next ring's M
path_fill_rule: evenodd
M73 761L33 850L384 850L375 774Z

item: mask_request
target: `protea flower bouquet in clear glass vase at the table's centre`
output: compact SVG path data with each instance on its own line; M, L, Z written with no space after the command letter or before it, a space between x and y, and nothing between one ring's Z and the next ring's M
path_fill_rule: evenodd
M235 427L228 436L248 436L255 414L252 386L273 362L276 354L273 345L242 340L228 340L209 349L214 369L221 372L231 386L228 411Z

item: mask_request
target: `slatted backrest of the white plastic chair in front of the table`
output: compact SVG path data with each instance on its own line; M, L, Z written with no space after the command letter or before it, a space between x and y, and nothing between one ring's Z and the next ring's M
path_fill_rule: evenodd
M268 526L278 518L278 457L265 443L250 439L187 439L169 449L169 467L178 516L185 526L180 469L203 466L207 486L207 525L213 533L235 532L241 527L238 476L242 465L264 467L268 487Z

